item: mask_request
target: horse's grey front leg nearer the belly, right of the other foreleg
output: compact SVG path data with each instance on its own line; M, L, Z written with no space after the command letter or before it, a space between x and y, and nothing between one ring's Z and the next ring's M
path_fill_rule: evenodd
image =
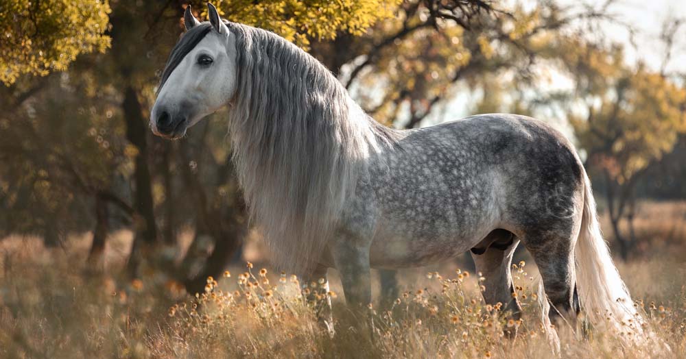
M372 301L372 284L369 269L369 246L355 238L338 238L331 255L340 273L348 307L360 310Z

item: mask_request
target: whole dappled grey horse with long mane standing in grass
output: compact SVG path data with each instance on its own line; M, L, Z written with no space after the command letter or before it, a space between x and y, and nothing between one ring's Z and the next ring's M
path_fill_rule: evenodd
M470 251L484 300L518 315L510 264L522 243L549 320L575 322L582 306L587 319L618 330L637 317L589 177L556 129L515 114L385 127L302 49L225 21L211 4L208 12L200 23L186 8L150 126L180 138L228 106L232 160L277 267L324 280L337 269L348 306L366 306L370 269Z

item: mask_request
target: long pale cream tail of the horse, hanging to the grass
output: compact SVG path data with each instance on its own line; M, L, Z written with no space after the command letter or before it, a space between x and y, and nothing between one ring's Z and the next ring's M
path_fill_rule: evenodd
M612 262L600 232L589 176L584 175L584 212L576 243L577 284L580 302L593 325L609 325L619 332L642 331L642 318Z

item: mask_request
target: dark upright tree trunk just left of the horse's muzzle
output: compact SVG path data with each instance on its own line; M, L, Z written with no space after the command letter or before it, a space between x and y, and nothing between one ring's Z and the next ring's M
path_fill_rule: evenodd
M134 240L127 270L135 277L141 260L150 247L157 242L157 228L152 201L152 181L147 164L147 126L143 119L143 108L136 90L129 85L124 91L122 103L126 119L126 139L138 149L134 159Z

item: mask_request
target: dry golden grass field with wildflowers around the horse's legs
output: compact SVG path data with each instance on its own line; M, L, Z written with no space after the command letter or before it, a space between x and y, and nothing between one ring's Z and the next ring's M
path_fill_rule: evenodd
M560 327L563 358L686 358L686 204L643 203L639 255L619 271L658 343L626 345L600 329ZM39 238L0 242L1 358L550 358L525 253L513 274L522 321L480 296L477 273L456 262L399 272L399 298L353 314L333 276L336 334L318 325L321 301L300 299L296 279L255 264L208 280L193 297L168 277L117 276L128 234L109 238L108 271L84 275L89 236L60 249ZM519 262L523 259L526 264ZM438 274L436 273L438 272ZM230 275L230 276L229 276ZM308 290L318 291L318 284ZM504 330L516 329L514 338ZM629 343L634 342L632 338Z

